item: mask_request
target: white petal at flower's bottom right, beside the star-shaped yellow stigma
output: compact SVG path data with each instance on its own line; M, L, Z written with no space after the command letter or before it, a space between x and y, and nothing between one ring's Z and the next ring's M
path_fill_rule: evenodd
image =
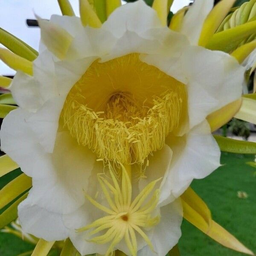
M151 242L157 254L145 246L138 252L138 256L166 256L180 239L183 215L180 200L161 207L160 211L160 223L154 227L151 233Z

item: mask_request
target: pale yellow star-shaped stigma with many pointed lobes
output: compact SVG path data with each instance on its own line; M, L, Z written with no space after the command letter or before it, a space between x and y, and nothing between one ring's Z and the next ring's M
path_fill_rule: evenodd
M121 165L122 166L122 165ZM103 175L98 175L99 183L102 191L108 201L109 207L105 207L86 195L86 198L98 209L105 212L102 218L94 221L86 227L82 227L77 232L83 232L93 229L89 236L96 235L97 233L106 230L105 233L99 236L94 236L89 241L97 244L110 243L110 246L105 256L112 255L116 244L122 239L125 239L128 249L132 256L137 255L137 235L142 236L148 246L154 251L150 239L144 233L144 228L154 227L158 224L160 216L152 217L152 212L157 207L159 199L159 189L156 189L151 198L148 195L153 191L156 183L160 180L154 180L149 183L137 197L132 201L132 188L131 181L124 166L122 166L122 181L119 186L113 172L111 178L113 184L109 183Z

